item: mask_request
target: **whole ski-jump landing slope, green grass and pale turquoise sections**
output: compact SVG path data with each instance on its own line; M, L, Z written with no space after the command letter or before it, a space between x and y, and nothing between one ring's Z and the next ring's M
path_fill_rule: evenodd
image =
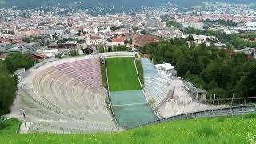
M118 124L132 128L156 120L138 82L134 58L107 58L106 64L111 104Z

